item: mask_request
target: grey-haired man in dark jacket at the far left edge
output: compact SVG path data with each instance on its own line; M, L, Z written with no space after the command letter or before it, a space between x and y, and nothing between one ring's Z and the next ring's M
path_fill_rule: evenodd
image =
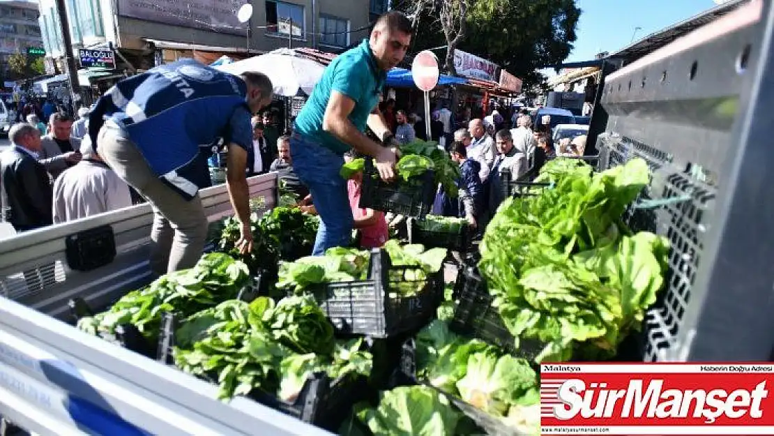
M46 167L37 160L43 149L40 132L26 122L9 130L11 146L0 153L2 208L16 232L51 225L52 187Z

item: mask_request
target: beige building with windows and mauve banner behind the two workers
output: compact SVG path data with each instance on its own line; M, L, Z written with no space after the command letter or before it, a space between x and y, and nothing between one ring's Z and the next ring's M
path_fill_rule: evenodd
M150 57L152 64L224 54L248 57L279 47L339 51L368 35L387 0L249 0L252 17L239 22L245 0L65 0L74 50L118 50L117 64ZM39 0L46 53L62 57L54 0ZM77 54L77 53L76 53ZM127 59L122 59L126 57ZM148 67L148 62L135 65ZM61 69L60 69L61 71Z

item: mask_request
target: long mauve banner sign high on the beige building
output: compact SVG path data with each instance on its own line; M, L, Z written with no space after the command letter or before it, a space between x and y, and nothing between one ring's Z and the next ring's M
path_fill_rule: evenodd
M118 15L245 35L248 24L239 22L237 18L242 4L244 0L118 0Z

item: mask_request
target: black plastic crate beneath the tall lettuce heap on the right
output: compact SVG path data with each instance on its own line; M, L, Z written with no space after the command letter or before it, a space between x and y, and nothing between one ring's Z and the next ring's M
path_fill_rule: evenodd
M539 341L519 341L519 348L515 347L515 338L505 327L495 307L491 306L493 298L489 294L485 280L478 275L476 269L469 266L457 276L455 290L459 292L454 309L454 318L450 322L450 328L462 335L470 335L475 338L497 345L516 357L533 360L543 349Z

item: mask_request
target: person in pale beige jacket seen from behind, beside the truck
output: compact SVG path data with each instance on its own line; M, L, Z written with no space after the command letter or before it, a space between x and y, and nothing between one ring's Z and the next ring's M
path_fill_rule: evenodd
M129 185L91 147L80 143L83 159L64 170L53 184L53 222L73 221L132 205Z

